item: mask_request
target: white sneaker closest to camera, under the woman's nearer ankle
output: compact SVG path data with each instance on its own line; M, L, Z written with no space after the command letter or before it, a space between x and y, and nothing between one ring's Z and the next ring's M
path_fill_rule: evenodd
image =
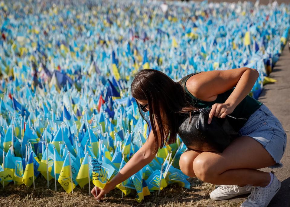
M281 182L273 175L273 180L268 187L252 187L248 199L241 204L241 207L266 207L274 195L279 191Z

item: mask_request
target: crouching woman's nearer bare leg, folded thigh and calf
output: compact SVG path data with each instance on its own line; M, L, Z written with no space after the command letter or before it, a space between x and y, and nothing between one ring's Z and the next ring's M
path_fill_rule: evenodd
M223 153L202 152L193 161L193 173L204 182L221 185L267 186L270 174L257 170L276 162L249 136L236 138ZM193 174L191 172L191 174Z

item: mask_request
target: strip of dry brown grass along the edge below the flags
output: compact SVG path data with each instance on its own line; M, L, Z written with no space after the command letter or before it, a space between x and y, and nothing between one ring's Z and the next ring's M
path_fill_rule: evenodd
M67 194L62 187L57 184L57 191L54 191L54 181L50 182L50 189L47 189L47 181L44 178L37 178L34 190L33 187L24 185L15 186L10 183L5 189L0 189L0 206L144 206L144 207L185 207L185 206L207 206L210 202L209 193L214 189L214 185L204 183L196 178L189 179L190 189L179 187L174 183L160 192L152 192L145 196L145 199L138 203L135 201L136 191L121 198L121 191L112 190L102 202L89 197L88 185L81 189L79 186L74 189L73 194ZM210 206L239 206L240 203L213 202Z

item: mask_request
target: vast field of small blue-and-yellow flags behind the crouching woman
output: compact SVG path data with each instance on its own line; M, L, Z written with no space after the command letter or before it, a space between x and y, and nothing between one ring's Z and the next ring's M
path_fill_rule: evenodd
M79 196L103 188L150 131L130 94L140 69L178 81L196 71L255 68L260 76L249 95L256 99L275 82L268 75L288 39L290 5L162 4L0 2L3 193L24 185ZM170 186L192 189L179 168L187 148L177 137L114 195L146 202L146 195L170 194Z

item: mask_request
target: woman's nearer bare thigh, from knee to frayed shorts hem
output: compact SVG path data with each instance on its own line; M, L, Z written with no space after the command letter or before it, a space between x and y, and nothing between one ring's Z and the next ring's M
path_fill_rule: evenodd
M203 152L195 157L193 169L195 174L221 174L229 169L260 169L274 165L276 162L268 151L249 136L240 136L222 152Z

